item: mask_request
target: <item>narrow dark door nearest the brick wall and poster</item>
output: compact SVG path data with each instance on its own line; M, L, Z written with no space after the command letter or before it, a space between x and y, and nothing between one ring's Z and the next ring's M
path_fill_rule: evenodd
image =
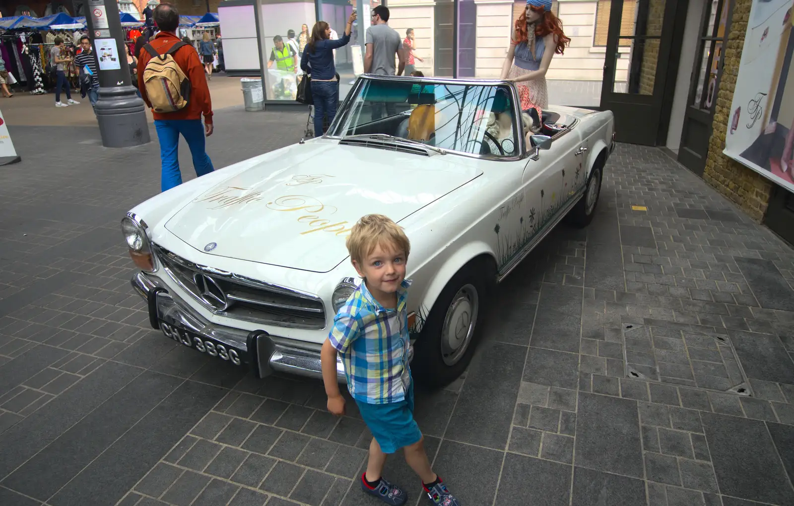
M719 82L723 77L723 59L732 8L731 0L707 0L703 6L700 42L692 70L692 82L689 84L678 151L678 161L701 177L706 168L708 140L711 138Z

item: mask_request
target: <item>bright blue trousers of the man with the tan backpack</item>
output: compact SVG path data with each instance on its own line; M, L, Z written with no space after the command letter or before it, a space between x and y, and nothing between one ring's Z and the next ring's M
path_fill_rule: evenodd
M201 120L155 120L154 126L157 139L160 140L160 162L163 167L160 188L163 191L182 184L182 173L179 172L180 133L187 140L187 147L191 148L196 176L201 177L215 170L204 149L204 125Z

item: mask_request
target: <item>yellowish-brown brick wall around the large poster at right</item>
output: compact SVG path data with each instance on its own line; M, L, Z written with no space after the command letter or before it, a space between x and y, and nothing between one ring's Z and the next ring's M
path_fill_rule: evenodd
M734 98L751 3L752 0L736 0L734 4L703 179L714 186L720 194L739 205L750 217L760 222L766 213L773 183L761 174L723 155L730 105Z

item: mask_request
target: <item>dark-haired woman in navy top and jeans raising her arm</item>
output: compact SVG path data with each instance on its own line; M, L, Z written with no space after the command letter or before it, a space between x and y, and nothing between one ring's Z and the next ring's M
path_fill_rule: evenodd
M314 100L314 136L322 136L322 121L328 117L328 125L337 115L339 81L337 67L333 63L333 50L350 41L350 30L356 21L354 10L345 25L341 39L330 40L331 28L326 21L317 21L311 30L309 42L300 59L301 70L311 75L311 96Z

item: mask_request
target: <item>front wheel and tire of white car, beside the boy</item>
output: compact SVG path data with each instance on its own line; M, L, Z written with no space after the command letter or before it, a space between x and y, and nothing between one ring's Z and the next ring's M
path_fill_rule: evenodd
M421 385L442 387L463 374L472 360L488 301L488 272L474 261L449 280L414 343L410 370ZM456 332L457 329L457 332Z

